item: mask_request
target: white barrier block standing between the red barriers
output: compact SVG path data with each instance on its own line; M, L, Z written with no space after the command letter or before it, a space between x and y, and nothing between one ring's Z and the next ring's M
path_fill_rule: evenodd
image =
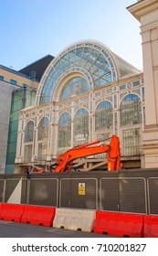
M91 232L94 219L95 211L92 210L57 208L53 227Z

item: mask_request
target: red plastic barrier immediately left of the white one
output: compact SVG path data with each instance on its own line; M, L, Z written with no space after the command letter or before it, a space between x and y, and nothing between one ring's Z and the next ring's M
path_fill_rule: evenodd
M21 222L51 227L55 213L56 208L26 206L21 218Z

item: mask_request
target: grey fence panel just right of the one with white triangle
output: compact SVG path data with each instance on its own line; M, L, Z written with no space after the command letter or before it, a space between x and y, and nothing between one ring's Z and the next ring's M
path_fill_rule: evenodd
M32 178L29 182L29 204L58 207L58 179Z

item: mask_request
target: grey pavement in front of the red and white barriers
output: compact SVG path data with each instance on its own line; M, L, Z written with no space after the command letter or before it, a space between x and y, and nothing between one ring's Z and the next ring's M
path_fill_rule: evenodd
M110 238L110 236L0 220L0 238Z

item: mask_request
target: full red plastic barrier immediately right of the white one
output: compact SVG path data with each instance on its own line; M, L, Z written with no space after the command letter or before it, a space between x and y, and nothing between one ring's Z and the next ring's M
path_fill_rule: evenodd
M143 216L116 212L96 211L94 233L117 237L142 238Z

